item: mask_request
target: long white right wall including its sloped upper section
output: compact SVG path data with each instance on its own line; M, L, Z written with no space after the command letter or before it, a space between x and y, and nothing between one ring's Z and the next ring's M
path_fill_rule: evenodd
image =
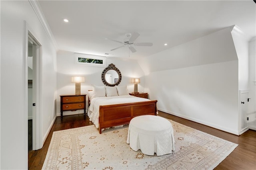
M230 28L139 63L159 110L238 134L238 57Z

